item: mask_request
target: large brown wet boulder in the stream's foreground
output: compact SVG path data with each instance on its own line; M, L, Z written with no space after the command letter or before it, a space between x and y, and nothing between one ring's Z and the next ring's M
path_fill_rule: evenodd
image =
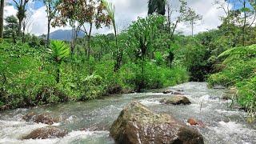
M146 106L132 102L122 110L110 128L116 143L202 144L198 130L178 122L169 114L155 114Z

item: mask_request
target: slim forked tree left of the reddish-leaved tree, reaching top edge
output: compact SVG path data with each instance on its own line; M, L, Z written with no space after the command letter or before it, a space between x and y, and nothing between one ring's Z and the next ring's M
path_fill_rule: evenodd
M50 24L54 19L56 13L56 0L44 0L43 1L46 6L46 14L47 14L47 38L46 38L46 45L49 46L50 44Z

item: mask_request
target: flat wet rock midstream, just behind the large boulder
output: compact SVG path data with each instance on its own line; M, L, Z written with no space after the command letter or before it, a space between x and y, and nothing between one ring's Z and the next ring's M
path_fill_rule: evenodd
M182 96L182 95L174 95L174 96L171 96L170 98L163 98L160 102L166 105L169 105L169 104L189 105L191 103L189 98L186 98L185 96Z

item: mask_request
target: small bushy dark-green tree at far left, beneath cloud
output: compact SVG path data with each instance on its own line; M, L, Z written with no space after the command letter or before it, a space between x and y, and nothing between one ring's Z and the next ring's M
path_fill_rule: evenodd
M18 19L14 15L5 18L6 26L3 32L5 38L13 38L14 43L16 42L17 30L18 30Z

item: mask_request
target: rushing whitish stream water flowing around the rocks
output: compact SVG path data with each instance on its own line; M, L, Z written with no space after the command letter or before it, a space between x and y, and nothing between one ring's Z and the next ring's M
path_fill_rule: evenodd
M160 99L170 94L144 93L123 94L90 102L69 102L55 106L40 106L33 109L17 109L0 113L0 143L114 143L110 138L111 124L124 106L138 101L157 113L174 115L186 123L188 118L202 120L205 127L194 126L203 135L205 143L210 144L246 144L256 143L256 126L246 122L246 113L230 109L231 101L220 99L224 90L210 90L204 82L189 82L170 87L173 90L184 90L192 102L188 106L167 106L160 104ZM31 131L47 126L34 122L25 122L22 116L29 112L50 113L63 120L55 126L69 131L64 138L22 140Z

